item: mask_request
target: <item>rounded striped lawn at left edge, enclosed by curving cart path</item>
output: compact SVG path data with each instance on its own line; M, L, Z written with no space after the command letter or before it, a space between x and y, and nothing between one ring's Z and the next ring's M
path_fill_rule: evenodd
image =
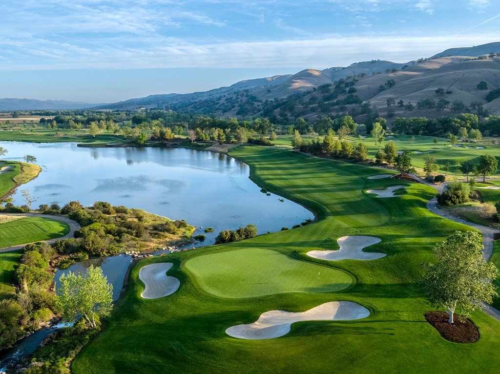
M0 248L53 239L69 232L69 225L45 217L26 217L0 223Z

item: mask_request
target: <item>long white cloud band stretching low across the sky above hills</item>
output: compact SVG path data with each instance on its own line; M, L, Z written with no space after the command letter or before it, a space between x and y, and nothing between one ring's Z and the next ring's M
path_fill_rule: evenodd
M113 39L96 41L92 48L32 37L21 48L24 61L4 53L14 62L3 61L7 70L74 68L167 68L167 67L329 67L370 59L407 62L431 56L457 45L477 45L497 41L496 34L466 36L342 37L279 41L187 43L173 38L145 38L134 47L115 46ZM98 45L97 45L98 42ZM17 41L0 40L4 51ZM38 56L38 58L31 58ZM43 56L42 59L39 56ZM12 57L12 58L9 58ZM33 62L29 62L33 61ZM36 62L34 62L36 61Z

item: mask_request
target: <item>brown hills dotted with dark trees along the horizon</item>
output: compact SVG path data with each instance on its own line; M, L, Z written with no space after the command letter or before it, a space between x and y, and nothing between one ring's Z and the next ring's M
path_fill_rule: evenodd
M459 103L465 107L472 103L474 108L482 105L489 113L500 115L500 98L489 102L485 99L490 90L500 87L497 53L500 42L450 48L406 63L373 59L347 67L305 69L296 74L242 80L204 92L155 94L112 104L0 99L0 110L146 107L238 117L264 115L274 119L297 116L314 119L318 115L349 112L362 120L363 110L366 111L362 105L367 102L387 117L435 117L443 115L443 110L451 110L453 103L457 107L462 107ZM486 88L484 83L478 87L481 81ZM427 100L425 106L417 105L423 100ZM432 106L432 102L440 104Z

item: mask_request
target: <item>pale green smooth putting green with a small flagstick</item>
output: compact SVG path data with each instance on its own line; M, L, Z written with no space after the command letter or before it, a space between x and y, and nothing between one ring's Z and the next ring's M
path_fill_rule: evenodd
M352 283L344 271L262 248L205 254L187 260L185 266L203 290L227 298L334 292Z

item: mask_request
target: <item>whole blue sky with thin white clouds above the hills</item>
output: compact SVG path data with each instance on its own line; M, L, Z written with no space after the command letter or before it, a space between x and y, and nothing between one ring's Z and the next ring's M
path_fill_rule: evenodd
M500 41L498 0L11 0L0 13L0 97L87 102Z

